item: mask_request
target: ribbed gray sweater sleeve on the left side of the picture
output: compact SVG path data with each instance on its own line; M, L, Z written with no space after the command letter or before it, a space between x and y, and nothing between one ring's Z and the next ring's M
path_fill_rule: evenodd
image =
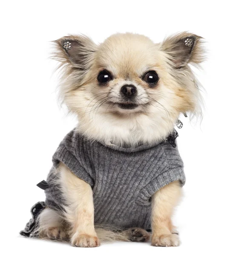
M78 154L80 151L79 140L80 136L75 133L75 130L67 134L53 155L52 162L55 168L60 162L64 163L77 177L89 183L90 186L94 186L94 180L85 168L85 158Z

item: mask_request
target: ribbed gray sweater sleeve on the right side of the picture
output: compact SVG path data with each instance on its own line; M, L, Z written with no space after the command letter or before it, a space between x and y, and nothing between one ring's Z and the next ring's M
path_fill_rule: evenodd
M185 184L185 173L183 162L177 148L171 148L170 145L165 145L164 148L166 161L165 168L162 172L153 177L138 193L136 203L141 206L149 206L152 195L169 183L179 180L181 186Z

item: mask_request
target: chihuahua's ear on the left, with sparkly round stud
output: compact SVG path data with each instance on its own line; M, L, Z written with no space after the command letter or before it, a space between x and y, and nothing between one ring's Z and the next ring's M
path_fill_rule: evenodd
M65 36L54 43L55 52L52 58L62 62L62 64L68 63L81 70L87 69L97 48L97 45L84 35Z

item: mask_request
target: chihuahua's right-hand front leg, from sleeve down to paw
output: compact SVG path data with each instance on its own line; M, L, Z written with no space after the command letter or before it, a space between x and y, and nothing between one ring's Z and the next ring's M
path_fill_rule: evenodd
M173 233L171 216L179 201L182 189L174 181L157 191L152 197L152 245L179 246L179 235Z

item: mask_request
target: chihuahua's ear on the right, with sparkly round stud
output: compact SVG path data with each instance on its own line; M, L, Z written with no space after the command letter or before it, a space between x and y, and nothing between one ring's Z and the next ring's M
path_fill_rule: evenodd
M161 48L167 53L176 68L183 67L188 63L199 64L204 61L202 39L198 35L182 32L166 38Z

